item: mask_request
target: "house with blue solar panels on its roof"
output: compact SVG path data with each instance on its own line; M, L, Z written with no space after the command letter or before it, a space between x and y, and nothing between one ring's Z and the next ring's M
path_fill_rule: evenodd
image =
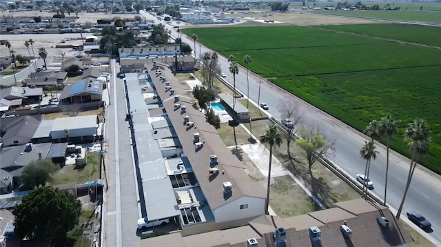
M63 88L63 92L59 97L59 105L101 101L102 93L103 81L92 78L84 79Z

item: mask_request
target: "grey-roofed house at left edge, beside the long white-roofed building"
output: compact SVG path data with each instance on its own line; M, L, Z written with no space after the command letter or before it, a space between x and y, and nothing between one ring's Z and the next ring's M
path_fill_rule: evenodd
M4 146L19 146L31 142L41 121L41 115L6 117L1 119L0 142Z

